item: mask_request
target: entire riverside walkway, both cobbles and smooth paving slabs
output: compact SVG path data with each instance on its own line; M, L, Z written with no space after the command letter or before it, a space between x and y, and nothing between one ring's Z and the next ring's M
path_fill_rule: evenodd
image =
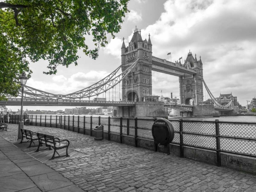
M94 137L63 129L25 126L34 132L69 139L71 157L48 160L53 151L34 153L35 147L18 144L17 127L8 124L8 131L0 131L1 192L256 191L255 175L116 142L95 141ZM58 179L54 179L55 175ZM14 188L15 183L25 183L21 184L24 188Z

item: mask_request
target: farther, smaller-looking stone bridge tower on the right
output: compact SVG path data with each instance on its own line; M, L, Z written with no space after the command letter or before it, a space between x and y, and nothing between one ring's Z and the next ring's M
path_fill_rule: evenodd
M182 64L187 69L196 70L195 75L184 75L179 77L180 83L180 100L181 104L199 105L203 101L203 63L193 57L189 50L185 63Z

